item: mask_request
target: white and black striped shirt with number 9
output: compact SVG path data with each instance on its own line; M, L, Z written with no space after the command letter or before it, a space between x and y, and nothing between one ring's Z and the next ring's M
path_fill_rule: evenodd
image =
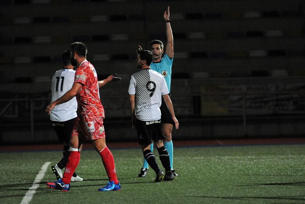
M164 77L151 69L142 69L131 75L129 95L135 95L135 115L141 121L161 118L161 97L169 94Z

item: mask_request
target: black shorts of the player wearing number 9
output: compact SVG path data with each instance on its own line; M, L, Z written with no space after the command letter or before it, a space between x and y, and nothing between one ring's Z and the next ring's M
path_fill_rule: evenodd
M136 121L138 141L140 145L149 145L151 141L166 139L162 134L161 120L158 121Z

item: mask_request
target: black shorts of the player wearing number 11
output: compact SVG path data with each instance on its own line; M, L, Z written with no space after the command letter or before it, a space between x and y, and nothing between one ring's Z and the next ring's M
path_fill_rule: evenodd
M61 143L65 142L69 144L75 120L76 118L63 122L51 121L56 135Z

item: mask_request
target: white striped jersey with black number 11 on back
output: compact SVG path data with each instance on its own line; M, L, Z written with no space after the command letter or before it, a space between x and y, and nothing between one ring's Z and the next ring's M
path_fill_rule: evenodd
M74 83L75 71L73 69L60 69L56 71L52 76L51 90L52 99L51 102L56 101L62 97L67 91L69 91ZM56 105L51 110L51 121L68 121L77 117L77 101L76 97L73 97L70 101Z

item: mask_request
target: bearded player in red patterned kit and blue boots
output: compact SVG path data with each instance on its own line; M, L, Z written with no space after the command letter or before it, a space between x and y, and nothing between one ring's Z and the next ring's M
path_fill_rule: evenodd
M105 114L104 107L99 98L99 87L109 81L116 81L120 78L110 75L107 79L98 81L93 65L86 60L87 47L84 43L72 43L70 50L72 52L71 64L77 66L73 86L61 98L50 103L46 108L46 113L49 114L56 105L77 96L77 120L74 123L70 139L70 155L63 179L47 182L46 185L62 191L70 190L71 176L80 161L80 146L84 139L89 139L95 150L100 154L107 176L109 177L108 184L98 189L98 191L119 191L121 186L117 180L113 155L106 146L103 126Z

